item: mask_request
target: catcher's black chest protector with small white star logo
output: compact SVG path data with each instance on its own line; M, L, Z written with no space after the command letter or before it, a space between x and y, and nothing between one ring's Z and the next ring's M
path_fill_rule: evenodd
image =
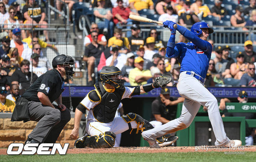
M101 101L93 108L93 115L99 122L112 122L115 118L115 112L121 103L124 89L115 88L114 92L107 92L100 82L96 83L95 87L100 93Z

